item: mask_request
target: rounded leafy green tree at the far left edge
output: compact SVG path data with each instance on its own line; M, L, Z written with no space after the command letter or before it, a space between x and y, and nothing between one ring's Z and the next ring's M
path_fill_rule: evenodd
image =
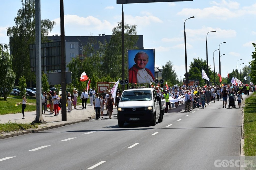
M12 58L9 54L7 45L0 44L0 88L4 95L4 100L7 99L12 88L16 74L12 70Z

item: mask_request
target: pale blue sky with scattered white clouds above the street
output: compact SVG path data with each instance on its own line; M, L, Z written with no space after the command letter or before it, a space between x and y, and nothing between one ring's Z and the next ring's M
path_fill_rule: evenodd
M6 28L14 26L21 7L21 0L1 1L0 43L9 43ZM144 36L144 48L155 49L155 66L162 68L171 61L179 80L185 74L186 19L195 17L185 22L188 70L193 58L206 60L206 35L216 30L207 36L208 65L213 70L215 58L215 71L219 72L219 53L214 51L220 46L221 74L227 77L236 67L240 71L252 61L255 9L256 1L248 0L123 4L124 23L136 24L137 35ZM121 12L122 5L116 0L64 0L65 35L111 35L121 21ZM60 1L41 0L41 19L56 21L49 36L60 34Z

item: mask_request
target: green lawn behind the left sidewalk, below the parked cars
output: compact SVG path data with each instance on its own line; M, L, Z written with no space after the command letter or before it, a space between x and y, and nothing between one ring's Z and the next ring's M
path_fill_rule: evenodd
M27 104L25 108L25 112L36 110L36 98L27 97ZM21 113L21 104L15 106L16 103L22 102L20 96L10 96L7 100L0 99L0 115L12 114L12 113Z

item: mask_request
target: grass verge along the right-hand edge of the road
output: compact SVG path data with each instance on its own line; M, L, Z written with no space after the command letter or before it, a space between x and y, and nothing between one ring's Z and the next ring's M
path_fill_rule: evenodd
M244 152L256 156L256 92L245 100L244 107Z

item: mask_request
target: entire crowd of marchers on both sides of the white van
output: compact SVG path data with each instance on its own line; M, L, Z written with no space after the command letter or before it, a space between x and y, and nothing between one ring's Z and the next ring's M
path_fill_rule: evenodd
M185 112L189 112L194 108L202 107L205 108L206 105L210 104L210 101L215 103L216 100L223 100L223 108L226 108L227 101L230 95L235 96L235 99L238 102L238 107L241 107L241 100L243 100L243 95L249 95L249 92L255 91L255 85L249 84L241 84L241 85L230 85L223 84L221 86L169 86L169 87L157 87L157 93L166 101L165 113L168 112L169 109L177 108L180 104L185 103ZM132 86L132 88L135 88ZM139 88L139 87L137 87ZM142 86L140 88L145 88ZM82 109L86 109L87 100L90 100L90 106L93 106L95 109L96 119L103 118L104 109L106 109L106 114L109 115L109 119L112 118L113 106L118 107L119 100L121 98L121 91L117 89L116 96L112 96L111 87L109 90L103 90L100 94L96 92L96 88L90 88L89 92L86 89L83 89L83 92L80 95L80 100L82 102ZM115 97L115 102L114 102ZM59 107L61 108L61 96L57 94L57 92L53 91L52 93L42 92L42 114L45 114L47 108L50 109L49 114L55 114L54 116L59 115ZM79 98L79 94L77 90L73 90L73 94L70 92L67 94L66 102L68 113L72 111L72 109L77 109L77 99ZM172 99L180 99L172 101ZM183 99L183 100L182 100ZM26 107L26 99L23 97L22 104L22 114L23 118L24 109ZM49 103L49 104L48 104ZM17 104L17 105L19 105ZM232 106L233 107L233 106Z

